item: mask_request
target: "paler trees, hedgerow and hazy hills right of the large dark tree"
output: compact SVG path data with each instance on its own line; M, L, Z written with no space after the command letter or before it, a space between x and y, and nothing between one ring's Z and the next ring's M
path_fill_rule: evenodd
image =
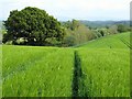
M77 44L85 43L90 40L95 40L101 36L117 34L130 31L130 25L128 22L97 22L95 26L88 25L90 21L67 21L62 22L65 28L66 36L64 37L64 46L73 46ZM87 23L87 24L86 24ZM102 24L103 26L98 26L97 24ZM108 24L107 24L108 23ZM111 24L110 24L111 23Z

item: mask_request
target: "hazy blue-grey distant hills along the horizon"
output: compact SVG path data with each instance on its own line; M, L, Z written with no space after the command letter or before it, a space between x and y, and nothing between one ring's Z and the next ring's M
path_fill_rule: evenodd
M87 20L79 20L82 24L90 26L90 28L103 28L103 26L111 26L114 24L125 24L130 25L130 21L87 21Z

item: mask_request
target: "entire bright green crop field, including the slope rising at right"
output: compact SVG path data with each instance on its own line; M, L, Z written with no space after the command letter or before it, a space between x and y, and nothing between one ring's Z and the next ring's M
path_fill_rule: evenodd
M130 97L130 33L68 48L2 45L2 97Z

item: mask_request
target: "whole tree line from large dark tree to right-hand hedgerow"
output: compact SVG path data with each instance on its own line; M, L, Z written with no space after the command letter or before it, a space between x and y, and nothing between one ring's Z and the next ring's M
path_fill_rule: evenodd
M4 21L4 26L7 33L3 34L2 43L34 46L74 46L131 30L129 25L123 24L97 29L77 20L58 22L46 11L31 7L21 11L11 11L8 20Z

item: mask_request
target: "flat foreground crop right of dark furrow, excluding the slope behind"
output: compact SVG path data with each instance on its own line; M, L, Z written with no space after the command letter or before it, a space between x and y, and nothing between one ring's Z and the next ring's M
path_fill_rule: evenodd
M88 53L88 54L86 54ZM129 97L130 52L128 50L80 50L82 77L80 96Z

